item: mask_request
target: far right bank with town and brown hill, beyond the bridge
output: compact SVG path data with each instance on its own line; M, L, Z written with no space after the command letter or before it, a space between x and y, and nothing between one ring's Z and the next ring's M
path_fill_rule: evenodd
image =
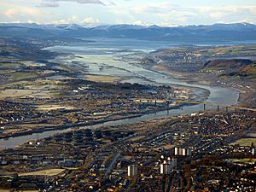
M139 62L190 83L233 87L243 106L255 107L255 45L193 46L159 49Z

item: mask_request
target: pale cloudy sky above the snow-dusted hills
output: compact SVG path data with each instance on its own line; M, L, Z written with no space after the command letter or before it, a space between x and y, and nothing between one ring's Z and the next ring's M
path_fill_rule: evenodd
M81 26L256 24L256 0L0 0L0 22Z

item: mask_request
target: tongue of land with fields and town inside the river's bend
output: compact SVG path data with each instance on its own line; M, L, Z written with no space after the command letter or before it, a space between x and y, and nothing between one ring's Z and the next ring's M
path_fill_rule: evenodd
M183 105L158 102L163 99L203 102L209 94L177 85L119 83L108 76L102 79L110 82L90 75L79 79L78 71L35 59L2 58L0 69L0 138L136 117ZM154 102L136 102L140 98Z

